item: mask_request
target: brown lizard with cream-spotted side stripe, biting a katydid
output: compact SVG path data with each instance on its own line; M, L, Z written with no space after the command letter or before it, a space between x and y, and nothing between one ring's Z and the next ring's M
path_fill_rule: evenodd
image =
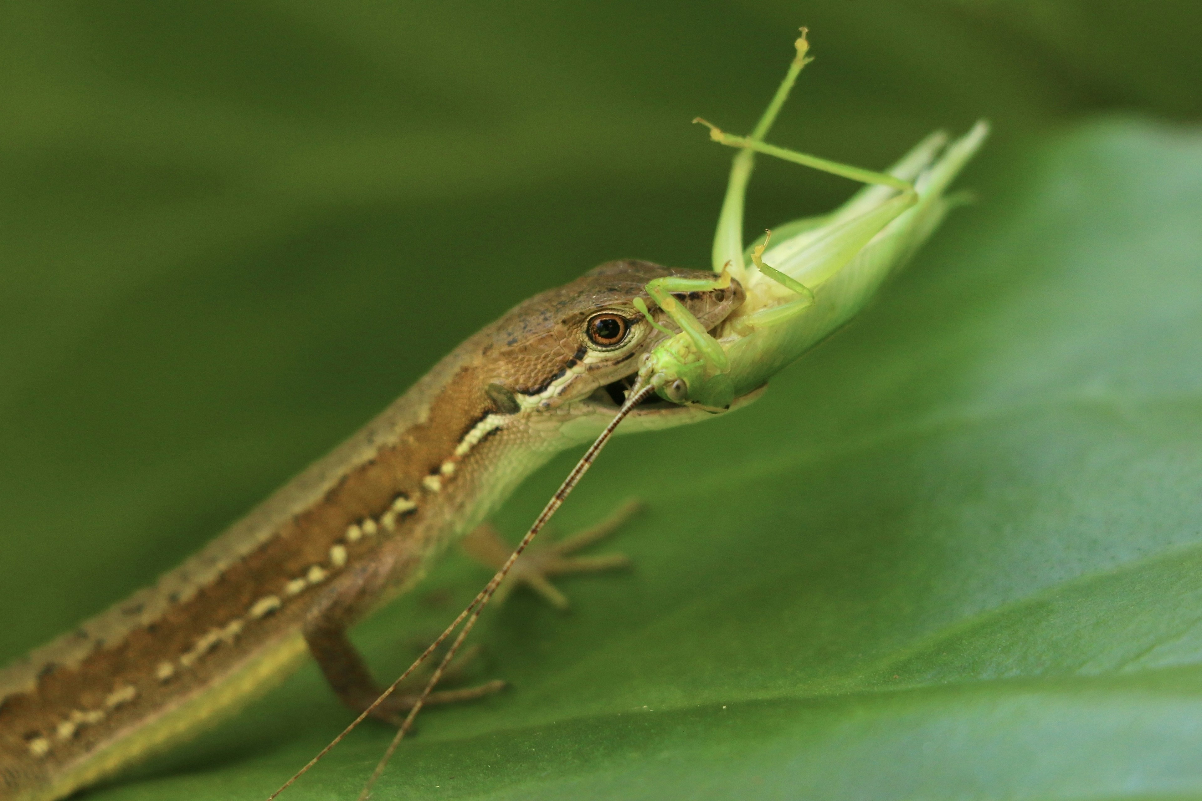
M364 710L379 688L347 627L606 425L665 336L633 300L676 330L645 289L670 275L713 277L611 262L518 305L154 586L0 671L0 799L49 801L112 776L232 712L307 651ZM734 282L674 297L709 329L744 294ZM706 417L648 402L624 429ZM394 721L407 704L376 713Z

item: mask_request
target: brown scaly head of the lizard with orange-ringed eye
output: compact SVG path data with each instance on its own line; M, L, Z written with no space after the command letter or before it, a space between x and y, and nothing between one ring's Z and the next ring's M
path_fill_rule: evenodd
M620 261L597 267L571 283L535 295L492 329L484 391L498 411L551 411L565 404L620 402L641 357L664 341L676 323L647 291L656 279L712 279L706 270ZM706 328L743 303L737 281L670 295ZM644 316L636 299L649 306ZM608 397L605 397L608 395Z

